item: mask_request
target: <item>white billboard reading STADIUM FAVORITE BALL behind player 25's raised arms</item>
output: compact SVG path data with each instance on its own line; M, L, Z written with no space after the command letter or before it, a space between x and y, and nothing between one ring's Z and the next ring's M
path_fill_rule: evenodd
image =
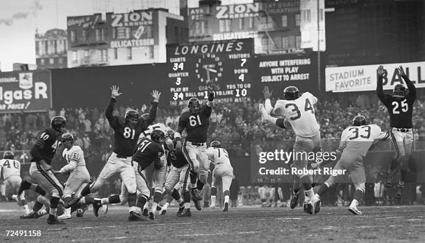
M363 66L327 67L326 91L350 92L372 91L376 89L379 64ZM397 67L402 65L409 79L417 88L425 87L425 62L407 62L401 64L383 64L387 75L383 78L383 89L392 89L396 84L404 84L397 75Z

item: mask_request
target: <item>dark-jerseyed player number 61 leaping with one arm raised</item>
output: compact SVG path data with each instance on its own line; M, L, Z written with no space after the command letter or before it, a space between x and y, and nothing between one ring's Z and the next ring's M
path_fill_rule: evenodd
M211 85L206 105L200 105L197 98L190 98L189 111L183 112L178 119L178 127L175 134L176 151L181 151L181 134L184 129L188 133L183 145L183 155L190 163L190 183L192 187L192 199L197 210L201 210L200 191L206 183L210 163L206 152L206 140L210 115L214 105L214 86ZM199 174L199 180L197 177Z

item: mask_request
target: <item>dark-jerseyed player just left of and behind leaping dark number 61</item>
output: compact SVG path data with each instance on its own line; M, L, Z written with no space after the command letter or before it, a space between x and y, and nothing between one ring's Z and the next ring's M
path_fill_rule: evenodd
M172 136L172 134L170 134ZM175 141L174 141L174 144ZM178 203L178 217L190 217L192 213L190 212L190 192L189 192L189 174L190 174L190 165L188 161L183 156L183 153L174 150L170 150L167 154L167 161L170 165L170 170L167 176L167 181L165 181L165 192L168 195L172 195L172 199L175 199ZM183 182L181 189L183 190L183 199L181 198L180 192L180 182ZM170 201L167 201L169 204ZM168 204L163 206L162 211L167 210ZM183 210L185 211L184 214ZM165 214L165 213L164 213Z

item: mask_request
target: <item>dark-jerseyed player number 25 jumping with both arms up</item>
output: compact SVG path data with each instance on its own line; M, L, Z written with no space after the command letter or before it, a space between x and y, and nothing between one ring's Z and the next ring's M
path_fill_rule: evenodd
M400 168L400 179L397 185L396 198L400 199L403 193L404 181L406 179L408 160L412 153L413 145L413 132L412 132L412 112L413 103L415 102L416 88L412 81L409 80L403 67L399 66L397 69L400 80L404 80L408 87L403 84L396 84L392 95L383 93L383 78L386 78L387 70L383 66L378 66L378 85L376 86L376 93L379 100L383 102L390 114L390 133L392 142L396 150L396 155L392 159L392 163L387 172L387 179L385 186L392 186L392 177L397 174L397 168Z

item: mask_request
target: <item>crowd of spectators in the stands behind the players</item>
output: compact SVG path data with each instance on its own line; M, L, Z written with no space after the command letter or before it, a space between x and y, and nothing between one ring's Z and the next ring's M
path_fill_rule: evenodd
M318 102L315 112L320 124L322 139L340 139L342 130L350 125L351 118L358 114L362 114L369 119L369 123L377 124L383 130L389 128L387 127L390 124L387 111L374 93L347 96L342 99L343 102L338 100L337 98L326 98ZM272 100L272 103L275 101ZM261 123L258 113L260 102L263 100L215 105L210 117L210 141L215 139L222 141L232 156L248 156L251 141L294 139L292 130ZM138 111L143 114L149 111L149 108L147 105L143 105ZM425 136L424 108L425 101L418 99L415 102L412 119L415 122L415 139ZM130 109L130 107L121 106L115 112L124 116L126 109ZM183 109L185 109L183 105L181 107L160 107L156 122L176 129L178 117ZM102 108L63 108L58 111L51 110L48 113L3 114L0 116L0 151L29 150L37 133L49 125L49 120L53 116L67 118L67 129L76 135L75 143L83 148L86 156L109 152L113 131L106 121ZM24 154L22 158L18 159L26 161L28 155Z

